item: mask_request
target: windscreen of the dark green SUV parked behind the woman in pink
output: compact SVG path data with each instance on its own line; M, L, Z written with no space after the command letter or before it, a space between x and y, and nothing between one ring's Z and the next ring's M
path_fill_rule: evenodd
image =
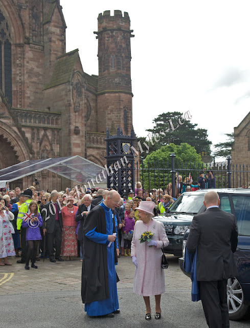
M192 213L197 214L203 205L203 193L183 194L171 206L169 213Z

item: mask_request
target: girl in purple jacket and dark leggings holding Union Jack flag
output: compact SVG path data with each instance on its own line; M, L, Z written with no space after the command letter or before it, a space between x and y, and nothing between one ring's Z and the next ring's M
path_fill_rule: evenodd
M27 215L31 215L27 218ZM26 258L25 269L30 270L29 261L31 259L31 268L37 269L35 265L36 250L41 238L40 227L42 226L42 218L38 213L38 206L36 201L31 201L29 211L22 217L21 226L26 229L26 241L28 243L28 252Z

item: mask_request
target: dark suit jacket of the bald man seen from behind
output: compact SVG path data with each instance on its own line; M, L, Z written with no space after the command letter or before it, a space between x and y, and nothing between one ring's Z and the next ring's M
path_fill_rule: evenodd
M211 208L195 215L187 241L189 252L197 247L198 281L217 281L235 277L237 267L233 253L238 243L235 216Z

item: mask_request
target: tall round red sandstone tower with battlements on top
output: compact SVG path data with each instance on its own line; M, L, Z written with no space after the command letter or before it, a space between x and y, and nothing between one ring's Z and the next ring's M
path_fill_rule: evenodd
M115 133L117 126L129 134L132 125L130 73L130 19L120 10L104 11L98 16L99 77L97 88L98 132Z

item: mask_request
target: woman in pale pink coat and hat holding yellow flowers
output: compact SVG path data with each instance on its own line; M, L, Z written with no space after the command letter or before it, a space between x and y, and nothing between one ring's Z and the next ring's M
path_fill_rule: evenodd
M152 219L155 203L141 201L138 209L139 220L135 222L131 243L131 258L135 265L133 292L142 295L146 305L146 320L151 319L149 296L155 298L155 319L161 318L161 294L165 292L162 247L169 244L162 222ZM141 243L145 231L153 233L152 239Z

